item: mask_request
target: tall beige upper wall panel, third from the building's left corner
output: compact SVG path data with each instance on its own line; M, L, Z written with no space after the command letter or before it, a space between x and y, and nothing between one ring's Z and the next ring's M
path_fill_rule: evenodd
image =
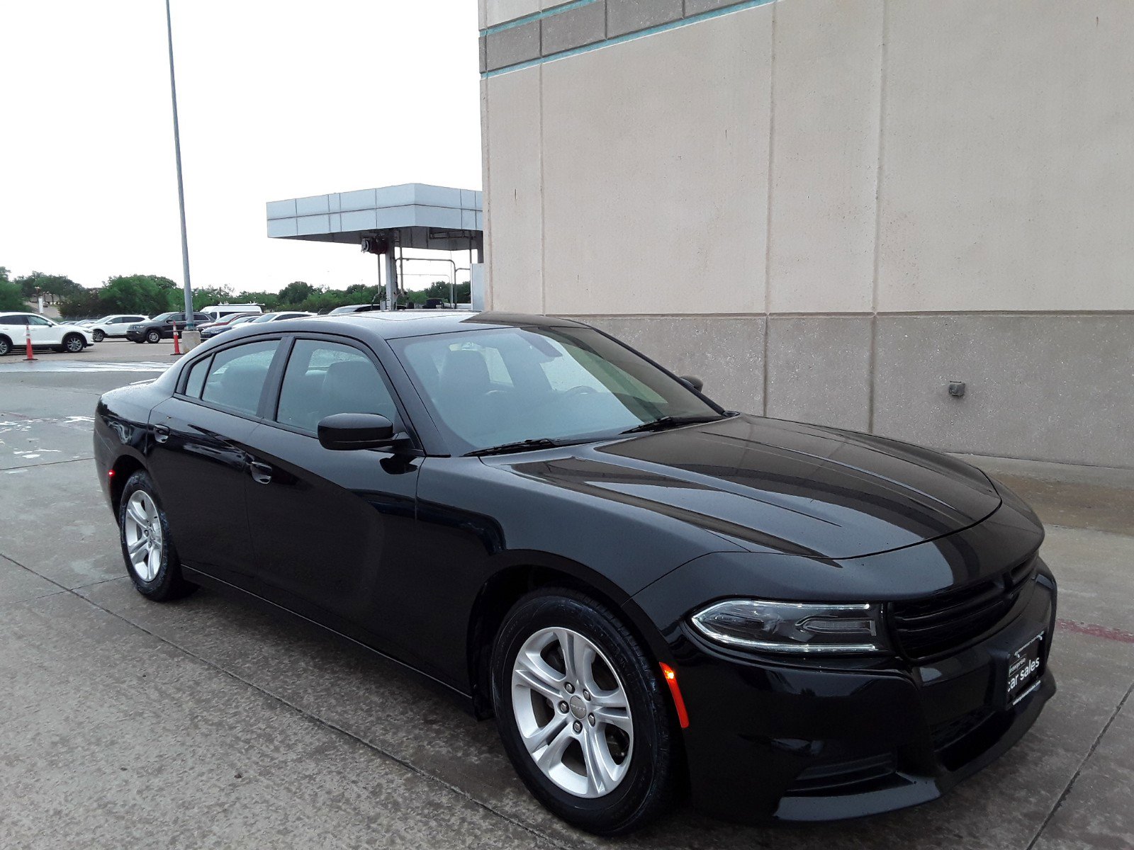
M776 8L770 305L871 309L882 0Z

